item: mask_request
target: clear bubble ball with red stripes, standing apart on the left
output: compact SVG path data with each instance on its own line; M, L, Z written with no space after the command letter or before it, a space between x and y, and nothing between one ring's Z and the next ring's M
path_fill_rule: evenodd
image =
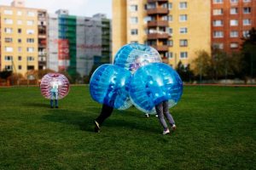
M40 88L46 99L50 99L52 88L57 89L58 99L63 99L69 92L69 82L67 77L60 73L48 73L42 78Z

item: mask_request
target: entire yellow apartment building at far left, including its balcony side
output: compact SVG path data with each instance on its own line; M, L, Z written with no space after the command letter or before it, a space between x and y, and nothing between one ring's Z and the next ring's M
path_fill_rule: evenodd
M0 18L0 70L25 75L30 70L44 69L45 10L26 8L24 1L15 0L10 6L0 6Z

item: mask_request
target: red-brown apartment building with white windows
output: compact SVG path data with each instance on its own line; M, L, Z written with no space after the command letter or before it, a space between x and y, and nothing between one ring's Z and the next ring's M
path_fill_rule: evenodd
M256 27L255 0L212 0L212 46L232 53Z

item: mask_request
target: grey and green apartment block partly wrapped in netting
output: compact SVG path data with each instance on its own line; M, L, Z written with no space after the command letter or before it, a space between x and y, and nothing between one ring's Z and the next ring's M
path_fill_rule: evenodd
M49 69L84 77L93 65L110 62L111 27L105 14L74 16L60 9L48 20Z

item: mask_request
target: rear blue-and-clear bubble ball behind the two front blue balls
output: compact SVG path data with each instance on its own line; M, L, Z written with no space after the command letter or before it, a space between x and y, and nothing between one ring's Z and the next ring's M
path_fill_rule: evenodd
M149 63L162 62L155 48L139 43L129 43L119 49L114 56L113 65L118 65L133 74L138 68Z

